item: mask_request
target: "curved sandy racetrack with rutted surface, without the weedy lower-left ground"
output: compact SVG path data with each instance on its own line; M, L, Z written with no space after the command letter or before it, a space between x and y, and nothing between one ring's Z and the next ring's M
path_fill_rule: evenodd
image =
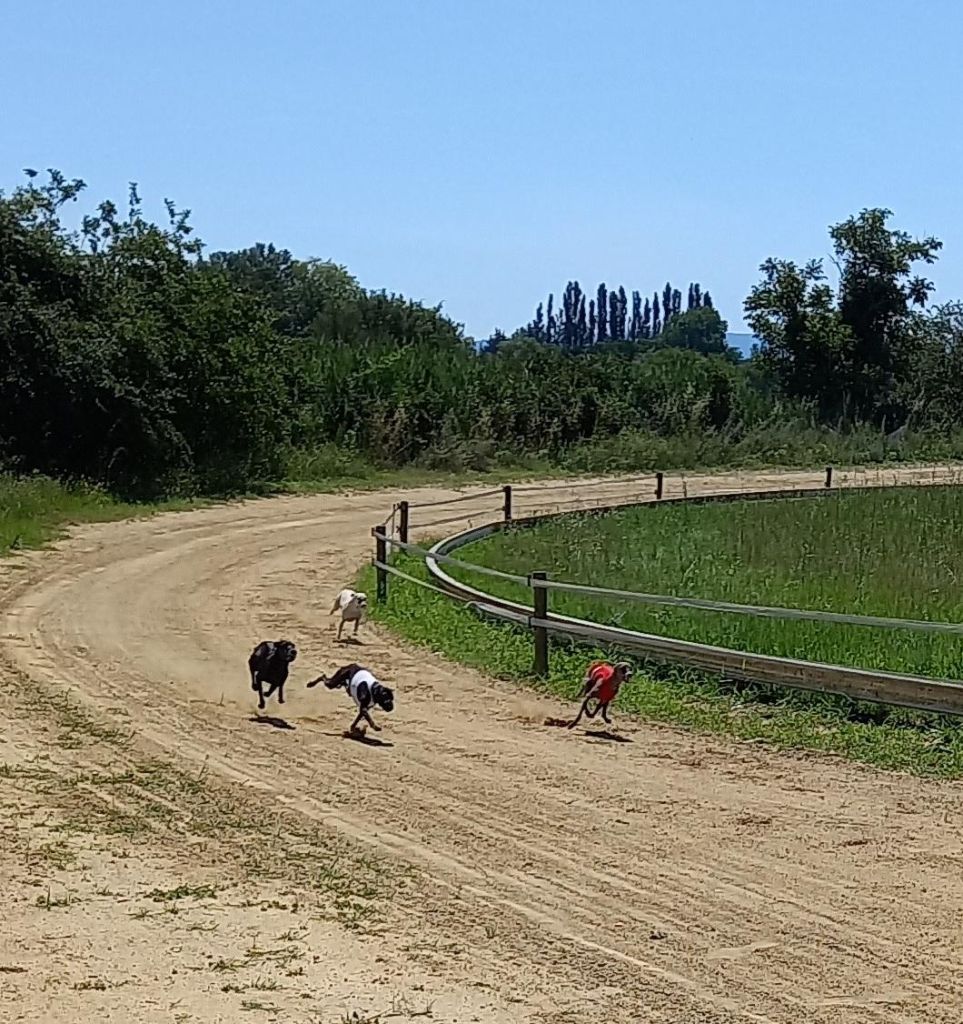
M685 486L821 482L768 473ZM678 479L666 483L679 493ZM638 487L599 481L592 498ZM569 493L519 494L516 514ZM470 963L492 955L475 930L497 933L499 956L526 979L519 992L534 991L533 1006L557 996L558 1020L959 1020L963 884L940 859L963 839L954 785L624 721L631 743L587 742L532 724L564 714L557 702L372 632L361 656L401 696L382 734L393 745L343 741L348 709L299 684L357 656L334 644L328 604L396 497L285 498L80 529L8 589L0 653L106 717L123 703L143 743L417 865L426 881L407 938L428 923L459 937ZM456 508L466 520L494 514L492 499ZM296 729L285 732L249 721L244 666L279 631L301 650L284 710ZM861 829L875 838L841 845Z

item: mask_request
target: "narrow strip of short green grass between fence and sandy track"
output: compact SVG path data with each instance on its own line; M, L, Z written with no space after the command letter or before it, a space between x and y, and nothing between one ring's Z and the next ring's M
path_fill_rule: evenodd
M425 579L423 563L400 558L399 567ZM370 568L361 583L374 590ZM574 701L585 665L617 652L553 641L551 674L532 676L532 638L493 625L442 595L396 579L374 618L403 639L499 679L525 683ZM642 667L620 694L618 710L652 721L763 740L782 749L835 754L889 770L948 778L963 776L963 729L954 720L878 705L783 690L734 686L696 674ZM573 714L575 713L573 703Z

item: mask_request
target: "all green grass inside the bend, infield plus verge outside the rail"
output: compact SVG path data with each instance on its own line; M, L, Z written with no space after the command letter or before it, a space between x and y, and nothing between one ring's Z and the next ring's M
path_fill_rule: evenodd
M458 556L624 590L956 622L963 611L961 551L963 488L932 487L573 515L497 535ZM396 563L426 579L418 559ZM491 593L530 600L527 588L457 574ZM374 590L372 570L363 582ZM963 639L952 637L551 598L553 608L580 617L726 646L935 675L963 672ZM535 679L527 631L483 621L396 579L388 603L374 606L373 614L455 662L573 700L587 660L616 653L553 640L549 678ZM646 667L623 690L618 712L881 768L963 776L963 723L907 709Z

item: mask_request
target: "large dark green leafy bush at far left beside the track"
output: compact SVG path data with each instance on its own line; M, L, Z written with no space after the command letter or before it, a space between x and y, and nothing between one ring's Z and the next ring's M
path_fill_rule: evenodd
M262 303L198 273L186 214L150 223L133 188L125 217L102 203L69 232L80 187L51 175L0 199L3 455L137 497L277 474L291 360Z

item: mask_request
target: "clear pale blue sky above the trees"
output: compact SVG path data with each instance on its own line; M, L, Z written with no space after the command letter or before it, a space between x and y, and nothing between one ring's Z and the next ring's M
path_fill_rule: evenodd
M345 263L483 337L570 279L698 280L886 206L963 296L963 5L929 0L10 4L0 188L57 167L211 248Z

